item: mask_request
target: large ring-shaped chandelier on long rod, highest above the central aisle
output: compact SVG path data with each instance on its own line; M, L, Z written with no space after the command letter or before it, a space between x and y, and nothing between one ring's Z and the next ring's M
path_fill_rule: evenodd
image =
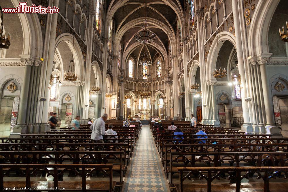
M136 33L134 35L134 39L136 41L138 41L139 43L151 43L153 41L155 41L156 39L156 35L155 33L152 33L150 31L148 31L148 24L147 24L147 29L146 29L146 0L144 1L144 26L142 31Z

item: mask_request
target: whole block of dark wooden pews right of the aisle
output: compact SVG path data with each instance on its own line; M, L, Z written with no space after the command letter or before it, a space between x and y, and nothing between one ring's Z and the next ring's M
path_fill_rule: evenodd
M183 139L167 130L171 121L162 121L164 131L150 123L170 191L287 191L287 138L174 122Z

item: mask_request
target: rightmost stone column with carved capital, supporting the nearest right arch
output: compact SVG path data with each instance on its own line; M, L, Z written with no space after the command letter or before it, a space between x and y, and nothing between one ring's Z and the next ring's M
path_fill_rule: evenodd
M267 71L266 71L266 63L271 58L264 58L260 57L258 59L258 63L260 66L260 73L261 73L261 80L262 80L262 91L264 95L264 109L265 109L265 115L266 115L266 132L268 134L278 134L279 129L275 126L274 123L274 115L273 115L273 103L270 100L272 98L271 91L268 86L268 79L267 79Z

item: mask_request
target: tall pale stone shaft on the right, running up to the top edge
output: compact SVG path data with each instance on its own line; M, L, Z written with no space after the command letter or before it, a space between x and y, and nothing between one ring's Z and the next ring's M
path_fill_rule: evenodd
M240 16L239 16L237 0L232 0L232 9L233 9L233 20L234 20L234 27L235 27L235 40L236 40L236 51L237 51L237 59L238 59L238 69L239 69L239 74L241 76L241 83L242 83L241 84L241 96L243 98L242 108L243 108L244 124L241 126L241 130L244 130L247 132L247 130L250 130L252 127L251 127L250 116L249 116L248 102L245 101L245 98L247 98L248 88L247 88L247 83L246 83L245 62L243 58Z

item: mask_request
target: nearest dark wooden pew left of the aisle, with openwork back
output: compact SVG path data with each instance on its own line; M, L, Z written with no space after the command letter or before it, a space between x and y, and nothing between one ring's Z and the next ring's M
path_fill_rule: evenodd
M51 168L49 170L47 168ZM63 169L58 171L58 169ZM92 169L88 173L86 169ZM4 170L8 169L8 170ZM9 172L17 169L20 175L26 176L26 181L4 181L4 176L9 176ZM24 171L22 171L24 169ZM104 169L109 169L107 173ZM44 170L48 175L53 176L52 181L31 181L31 176L36 174L40 170ZM42 188L65 188L61 191L109 191L112 192L115 189L116 182L113 181L112 164L0 164L0 190L5 191L4 187L18 187L18 191L31 191L29 189L35 189L35 191L43 191ZM81 179L78 181L58 181L59 176L63 176L65 172L73 172ZM93 177L96 171L101 171L105 176L109 176L109 181L87 181L86 177ZM27 189L20 189L20 187ZM50 190L44 190L50 191Z

